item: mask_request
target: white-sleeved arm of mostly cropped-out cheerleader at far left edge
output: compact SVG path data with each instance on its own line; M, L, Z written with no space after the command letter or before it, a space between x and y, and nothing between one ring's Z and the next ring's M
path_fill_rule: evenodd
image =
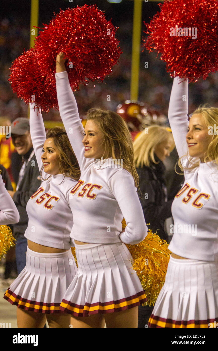
M18 223L20 216L0 175L0 225Z

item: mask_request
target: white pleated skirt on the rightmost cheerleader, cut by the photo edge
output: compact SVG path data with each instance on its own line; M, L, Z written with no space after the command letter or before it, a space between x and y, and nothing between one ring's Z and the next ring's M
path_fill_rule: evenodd
M148 326L210 328L218 322L218 262L170 256Z

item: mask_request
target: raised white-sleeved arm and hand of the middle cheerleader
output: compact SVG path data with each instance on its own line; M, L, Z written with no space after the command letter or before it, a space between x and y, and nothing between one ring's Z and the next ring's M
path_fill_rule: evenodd
M59 55L57 56L57 60L58 57ZM86 159L84 157L85 149L82 143L84 128L79 118L76 99L71 90L68 73L66 72L63 60L59 66L56 62L56 72L57 100L61 119L82 172L88 164L93 162L93 159Z

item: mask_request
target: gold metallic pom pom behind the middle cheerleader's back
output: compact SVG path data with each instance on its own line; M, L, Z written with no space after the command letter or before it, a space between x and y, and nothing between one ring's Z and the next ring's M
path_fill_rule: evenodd
M122 228L125 228L125 219L122 220ZM143 305L154 305L164 284L170 258L168 245L166 240L160 239L151 230L141 243L126 244L134 260L133 269L140 279L148 300Z

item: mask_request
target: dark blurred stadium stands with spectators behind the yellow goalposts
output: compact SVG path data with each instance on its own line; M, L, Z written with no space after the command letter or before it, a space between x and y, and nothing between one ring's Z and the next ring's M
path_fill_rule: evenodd
M120 1L120 0L112 0ZM23 50L29 48L30 37L30 0L0 2L0 115L7 116L13 121L18 117L26 117L28 106L16 97L8 82L9 68L12 61ZM77 104L80 117L92 107L103 107L116 111L118 104L130 99L131 78L131 50L132 50L132 26L133 26L133 1L122 0L119 3L111 3L107 0L83 1L83 0L40 0L38 26L49 23L50 19L60 9L82 6L84 4L96 4L105 12L107 20L112 20L114 26L118 26L117 38L123 53L118 65L115 65L113 73L106 77L103 83L90 82L87 86L80 86L77 94ZM159 11L158 2L142 1L142 31L141 37L146 30L143 21L149 22L149 18ZM148 68L145 68L148 62ZM156 53L144 51L140 55L140 79L138 100L154 106L155 110L167 115L172 79L166 73L165 64ZM95 87L94 87L95 85ZM218 106L217 99L218 74L211 74L206 81L200 79L195 84L189 85L189 108L190 113L201 103L208 102ZM111 100L107 101L107 95ZM45 120L60 121L58 111L51 111L43 115Z

